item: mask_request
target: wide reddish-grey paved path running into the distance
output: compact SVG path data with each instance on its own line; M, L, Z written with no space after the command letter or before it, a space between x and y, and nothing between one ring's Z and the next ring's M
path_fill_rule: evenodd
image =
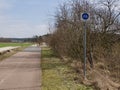
M0 62L0 90L41 90L40 48L31 46Z

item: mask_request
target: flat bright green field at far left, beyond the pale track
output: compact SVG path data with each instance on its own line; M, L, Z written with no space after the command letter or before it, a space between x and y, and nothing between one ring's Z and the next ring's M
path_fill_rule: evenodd
M7 46L22 46L22 47L27 47L31 45L31 43L1 43L0 42L0 47L7 47Z

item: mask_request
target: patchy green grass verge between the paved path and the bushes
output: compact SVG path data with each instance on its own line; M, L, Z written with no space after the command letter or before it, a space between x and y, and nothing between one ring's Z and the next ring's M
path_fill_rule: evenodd
M53 51L42 48L42 90L93 90L74 81L72 68L55 56Z

